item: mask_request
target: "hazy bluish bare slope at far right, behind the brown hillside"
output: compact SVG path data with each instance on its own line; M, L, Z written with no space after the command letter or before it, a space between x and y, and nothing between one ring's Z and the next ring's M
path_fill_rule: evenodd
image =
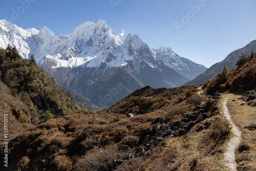
M184 85L189 86L203 84L206 80L212 79L218 73L222 72L224 65L226 65L229 70L236 68L238 57L242 54L250 54L253 49L256 49L256 40L251 41L248 45L241 49L233 51L223 61L215 63L204 73L198 75L195 79L188 81Z

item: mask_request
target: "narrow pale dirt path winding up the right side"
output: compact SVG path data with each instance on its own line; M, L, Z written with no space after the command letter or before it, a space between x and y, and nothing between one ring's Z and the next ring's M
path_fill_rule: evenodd
M241 131L238 129L238 127L232 122L231 117L228 113L227 109L227 100L228 98L224 98L224 101L222 103L224 116L229 121L230 125L232 126L232 133L233 137L230 139L230 141L227 144L227 150L224 153L224 162L227 167L230 168L231 171L237 170L237 163L235 161L235 154L234 151L238 147L240 140L241 140Z

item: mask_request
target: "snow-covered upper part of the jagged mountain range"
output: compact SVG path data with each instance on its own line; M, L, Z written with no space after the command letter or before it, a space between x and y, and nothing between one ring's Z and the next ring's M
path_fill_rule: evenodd
M111 68L131 65L136 66L135 71L139 74L141 65L148 65L154 69L172 68L187 76L184 73L192 72L189 66L193 65L195 70L199 66L175 54L171 48L150 49L136 34L129 33L123 40L102 19L96 24L83 23L72 33L60 36L55 36L47 27L40 31L34 28L24 30L0 20L0 47L6 48L8 44L16 46L22 57L29 58L34 54L40 67L52 69L81 66L103 73ZM200 68L200 72L203 69Z

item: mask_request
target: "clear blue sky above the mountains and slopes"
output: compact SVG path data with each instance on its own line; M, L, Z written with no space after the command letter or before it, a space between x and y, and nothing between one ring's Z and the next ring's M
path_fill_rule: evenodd
M254 0L2 0L0 19L23 29L46 26L55 35L104 19L115 34L124 29L123 38L137 34L150 48L171 47L210 67L256 39L255 8Z

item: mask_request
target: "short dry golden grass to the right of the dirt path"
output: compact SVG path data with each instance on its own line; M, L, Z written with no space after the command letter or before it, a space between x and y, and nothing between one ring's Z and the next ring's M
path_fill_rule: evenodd
M256 170L256 132L248 129L256 123L256 108L247 104L240 105L246 102L239 100L239 95L226 94L225 97L228 97L227 107L231 119L242 131L240 147L236 151L237 170ZM244 151L243 146L249 148Z

